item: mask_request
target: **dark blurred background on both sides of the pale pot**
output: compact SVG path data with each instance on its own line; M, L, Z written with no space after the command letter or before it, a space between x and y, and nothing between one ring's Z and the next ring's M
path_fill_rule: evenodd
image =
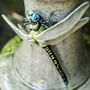
M0 0L0 50L15 33L2 19L1 14L8 14L13 22L23 22L24 1L23 0ZM90 8L86 16L90 17ZM86 48L90 49L90 21L83 27L83 41Z

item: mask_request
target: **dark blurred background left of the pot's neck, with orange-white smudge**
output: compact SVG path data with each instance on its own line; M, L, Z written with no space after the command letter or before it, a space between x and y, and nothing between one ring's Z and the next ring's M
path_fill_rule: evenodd
M15 22L23 22L24 1L23 0L0 0L0 50L15 33L1 17L1 14L9 15Z

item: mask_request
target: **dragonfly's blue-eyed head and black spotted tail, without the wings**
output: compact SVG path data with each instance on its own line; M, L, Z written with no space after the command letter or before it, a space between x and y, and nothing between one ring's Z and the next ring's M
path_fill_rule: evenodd
M48 28L47 23L45 23L43 21L45 21L45 20L43 20L42 16L38 12L33 11L33 13L28 12L26 14L25 25L28 25L28 29L31 32L30 35L32 34L32 31L34 31L33 33L36 33L36 32L40 33L40 32L42 32L42 31L44 31L44 30L46 30ZM33 35L35 35L35 34L33 34ZM33 35L31 35L32 38L34 38ZM55 54L53 53L51 47L49 45L46 45L45 47L42 47L42 48L46 50L49 57L53 61L57 71L59 72L59 74L61 75L61 77L62 77L62 79L64 81L64 84L68 85L67 76L64 73L63 69L61 68L61 66L60 66Z

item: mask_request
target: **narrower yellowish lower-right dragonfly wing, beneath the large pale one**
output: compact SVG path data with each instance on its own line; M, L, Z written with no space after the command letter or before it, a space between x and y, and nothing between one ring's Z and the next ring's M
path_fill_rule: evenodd
M63 32L58 38L52 39L47 41L49 45L55 45L57 43L60 43L62 40L70 36L72 33L74 33L76 30L81 28L83 25L85 25L89 21L89 17L81 19L69 32Z

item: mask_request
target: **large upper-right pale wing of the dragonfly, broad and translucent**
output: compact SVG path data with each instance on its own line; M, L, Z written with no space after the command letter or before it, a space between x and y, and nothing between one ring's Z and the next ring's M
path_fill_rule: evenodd
M63 34L63 32L69 32L80 21L81 17L84 15L88 8L88 2L81 4L62 21L36 35L35 39L39 43L45 43L49 40L58 38L59 36L61 36L61 33Z

